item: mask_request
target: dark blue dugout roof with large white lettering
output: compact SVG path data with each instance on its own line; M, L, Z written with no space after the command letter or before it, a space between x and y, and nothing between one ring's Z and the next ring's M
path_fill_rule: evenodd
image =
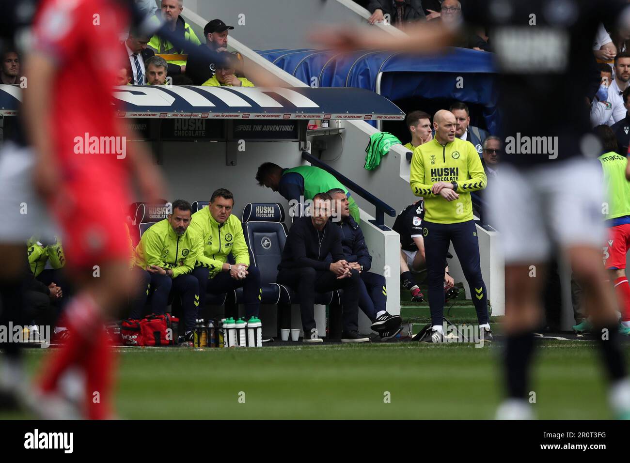
M20 100L20 87L0 85L0 115L15 115ZM125 85L113 101L119 117L132 118L404 119L387 98L358 88Z

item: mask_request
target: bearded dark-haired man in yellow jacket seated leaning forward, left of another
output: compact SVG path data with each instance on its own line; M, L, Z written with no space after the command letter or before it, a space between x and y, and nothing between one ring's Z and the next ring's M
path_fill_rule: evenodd
M151 297L151 311L164 314L169 295L178 295L184 311L186 338L191 341L199 305L199 284L192 271L202 242L197 231L188 229L190 203L178 199L172 207L173 214L147 229L135 248L135 264L150 274L141 281L149 280L151 284L148 294L146 285L140 285L140 292L146 297L140 294L134 299L131 318L142 317L147 297Z

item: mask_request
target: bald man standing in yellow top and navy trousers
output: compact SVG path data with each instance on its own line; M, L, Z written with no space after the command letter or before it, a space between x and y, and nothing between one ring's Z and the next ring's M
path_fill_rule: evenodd
M455 138L456 127L453 113L437 111L435 137L417 146L411 159L411 191L425 200L422 234L432 329L421 341L429 343L441 342L444 334L444 266L451 242L473 297L480 335L492 340L470 195L486 188L486 174L473 144Z

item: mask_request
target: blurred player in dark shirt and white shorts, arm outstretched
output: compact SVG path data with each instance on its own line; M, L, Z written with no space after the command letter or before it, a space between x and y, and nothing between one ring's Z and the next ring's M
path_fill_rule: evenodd
M462 33L488 27L500 71L502 171L490 185L491 223L505 253L505 382L508 399L498 418L529 418L529 365L544 263L553 246L569 258L584 289L593 334L604 354L609 398L617 416L630 418L630 382L617 343L617 303L606 283L600 243L602 185L583 94L588 87L593 37L600 23L627 34L623 0L469 0L464 24L415 25L407 38L351 28L320 30L318 42L336 49L427 52L457 43ZM535 270L537 277L530 277Z

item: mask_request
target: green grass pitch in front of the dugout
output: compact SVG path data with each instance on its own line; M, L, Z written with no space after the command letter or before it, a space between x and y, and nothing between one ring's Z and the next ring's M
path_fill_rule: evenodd
M31 374L48 354L27 350ZM612 418L597 354L589 342L541 343L531 388L538 418ZM493 418L501 397L499 360L496 345L120 349L117 414L151 420Z

